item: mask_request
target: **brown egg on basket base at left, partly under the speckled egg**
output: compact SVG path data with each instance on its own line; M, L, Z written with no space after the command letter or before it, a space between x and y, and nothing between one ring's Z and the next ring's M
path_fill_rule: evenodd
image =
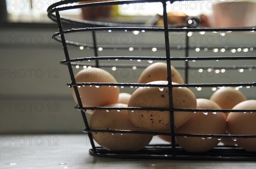
M110 104L106 107L127 107L127 104ZM96 110L90 117L90 129L137 130L128 118L127 110ZM149 144L153 135L133 133L93 132L93 139L100 146L112 151L137 151Z

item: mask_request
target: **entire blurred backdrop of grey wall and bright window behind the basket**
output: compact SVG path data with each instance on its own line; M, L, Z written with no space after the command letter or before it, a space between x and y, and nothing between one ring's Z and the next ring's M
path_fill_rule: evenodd
M58 0L0 0L0 133L81 133L84 127L81 114L74 109L75 101L67 82L70 75L67 66L61 65L64 51L61 43L52 39L58 25L47 17L47 8ZM81 2L83 3L83 2ZM76 3L77 4L77 3ZM76 5L71 4L71 5ZM182 26L186 18L197 17L201 27L255 27L256 3L246 1L182 1L168 4L169 24ZM102 8L104 10L102 10ZM61 12L77 20L147 24L161 27L163 8L161 3L138 3ZM86 13L87 12L87 13ZM172 19L172 20L171 20ZM65 29L75 28L64 25ZM77 27L78 28L78 27ZM186 32L185 32L186 33ZM184 57L184 32L170 32L170 45L175 47L171 57ZM255 32L188 32L189 56L256 56ZM143 31L98 31L98 45L113 45L112 49L97 48L99 56L165 56L164 34ZM125 39L124 39L125 37ZM68 34L68 40L93 44L91 32ZM115 45L127 45L117 49ZM143 49L151 45L151 49ZM204 47L204 48L202 48ZM232 48L230 48L232 47ZM93 48L68 46L71 58L90 57ZM74 73L85 67L77 66ZM115 63L105 61L106 68L118 82L137 82L144 68L131 66L116 68ZM127 61L118 61L127 63ZM131 61L129 64L150 65L147 61ZM171 62L182 67L183 61ZM248 61L189 61L191 66L202 66L189 71L189 83L240 83L256 82L255 60ZM212 69L212 65L220 69ZM236 65L243 66L237 68ZM251 65L253 68L249 68ZM142 67L143 67L142 66ZM230 69L224 67L230 66ZM235 67L233 67L235 66ZM221 68L223 67L223 68ZM179 69L184 78L184 70ZM125 73L125 74L124 74ZM198 98L209 99L218 87L198 87L191 90ZM236 87L255 99L255 87ZM132 93L125 87L121 92Z

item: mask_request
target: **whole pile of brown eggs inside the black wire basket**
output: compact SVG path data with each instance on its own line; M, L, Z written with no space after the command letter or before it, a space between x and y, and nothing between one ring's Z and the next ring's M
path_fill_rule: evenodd
M184 84L178 71L171 67L172 83ZM116 83L116 79L100 68L85 68L75 76L77 83ZM166 63L149 65L138 83L167 85ZM137 87L132 94L119 93L118 86L78 86L83 107L154 107L169 108L168 87ZM72 89L74 100L76 95ZM172 88L172 104L177 109L256 109L256 100L247 100L233 87L216 90L209 99L197 99L187 87ZM169 111L156 110L88 110L90 129L171 132ZM256 135L255 112L174 112L175 132L183 134ZM171 142L168 135L158 135ZM153 135L134 133L93 132L93 139L114 151L137 151L149 144ZM176 144L187 152L207 152L220 142L237 144L256 152L256 138L201 138L176 136Z

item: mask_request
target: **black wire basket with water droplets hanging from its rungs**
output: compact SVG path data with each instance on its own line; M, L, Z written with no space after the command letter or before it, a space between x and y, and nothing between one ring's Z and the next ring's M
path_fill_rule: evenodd
M174 111L187 111L187 112L197 112L197 111L206 111L206 112L216 112L217 110L212 109L175 109L173 105L170 104L169 109L164 108L142 108L142 107L83 107L81 103L81 99L78 92L79 86L119 86L119 87L168 87L169 91L172 91L173 87L255 87L256 83L218 83L218 84L189 84L188 82L188 73L190 69L199 69L204 66L191 66L190 62L201 61L201 60L212 60L212 61L221 61L221 60L239 60L243 62L244 60L255 60L255 56L218 56L218 57L191 57L189 54L189 50L191 49L212 49L215 50L219 47L215 47L214 45L208 46L194 46L189 44L189 32L221 32L225 33L228 31L255 31L256 28L197 28L199 23L198 18L188 18L189 22L186 25L179 25L178 27L173 27L172 25L168 25L168 16L166 5L168 3L173 3L167 0L124 0L124 1L111 1L111 2L96 2L96 3L87 3L87 4L77 4L77 2L84 0L64 0L58 3L54 3L47 9L48 17L58 23L59 32L55 33L52 37L57 41L61 42L64 49L65 60L61 61L61 64L67 65L71 77L71 83L67 85L69 87L73 87L76 93L76 98L78 101L78 106L75 108L80 110L82 118L84 120L86 132L90 138L90 143L92 149L90 149L90 155L94 156L103 156L103 157L114 157L114 158L143 158L143 159L169 159L169 160L212 160L212 161L255 161L256 154L254 152L247 152L244 149L239 148L238 146L217 146L214 149L203 152L203 153L189 153L181 149L180 146L175 145L175 136L185 136L185 137L211 137L211 138L256 138L256 135L212 135L212 134L178 134L175 133L174 127ZM157 27L154 25L134 25L134 24L117 24L117 23L103 23L96 21L88 21L88 20L77 20L69 17L64 17L60 15L61 11L76 9L76 8L90 8L94 6L107 6L107 5L122 5L122 4L131 4L131 3L162 3L163 4L163 27ZM62 24L71 25L76 28L64 30ZM184 29L186 27L186 29ZM81 43L73 40L66 40L68 34L74 34L77 32L91 32L93 36L93 44L89 43ZM98 50L100 48L104 49L128 49L131 48L131 45L98 45L96 41L96 32L97 31L142 31L142 32L163 32L164 33L164 45L158 46L157 48L165 50L166 56L164 57L149 57L149 56L99 56ZM186 43L182 46L170 46L169 42L169 32L183 32L186 35ZM80 48L93 48L94 56L91 57L82 57L70 59L70 54L68 52L67 45L75 45ZM249 48L251 51L255 50L256 46L244 46L239 45L243 48ZM239 46L228 46L225 47L225 50L232 50L238 48ZM132 48L138 49L150 49L151 45L134 45ZM183 57L171 57L170 51L172 50L183 50ZM198 49L197 49L198 50ZM84 63L85 61L94 61L94 63ZM124 60L125 64L105 64L101 63L101 61L105 60ZM73 69L76 66L93 66L97 68L106 68L106 67L120 67L120 68L131 68L136 66L137 68L145 68L147 65L141 64L129 64L129 60L148 60L149 62L153 61L165 61L167 63L167 70L171 70L171 63L173 61L183 61L184 65L178 68L185 70L185 84L183 85L172 85L172 77L171 73L168 73L168 85L146 85L146 84L138 84L138 83L76 83L75 76L73 73ZM241 68L256 68L256 65L234 65L234 66L212 66L212 68L226 68L226 69L241 69ZM170 72L170 71L169 71ZM172 93L169 92L169 102L172 103ZM170 121L171 121L171 132L142 132L142 131L126 131L126 130L91 130L89 124L87 122L87 118L85 115L86 110L158 110L158 111L169 111L170 112ZM231 110L218 110L218 112L230 112ZM255 110L232 110L232 112L252 112ZM152 135L171 135L172 136L172 144L150 144L146 146L144 149L137 152L129 152L129 151L109 151L103 149L102 147L95 146L92 132L111 132L111 133L140 133L140 134L152 134Z

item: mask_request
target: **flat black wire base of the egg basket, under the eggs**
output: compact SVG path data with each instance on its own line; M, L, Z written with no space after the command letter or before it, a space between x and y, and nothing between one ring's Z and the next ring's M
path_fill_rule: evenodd
M109 151L102 147L89 150L89 154L108 158L130 158L130 159L162 159L162 160L193 160L193 161L256 161L255 152L247 152L239 147L217 146L208 152L186 152L180 146L172 155L171 145L148 145L144 149L131 151Z

